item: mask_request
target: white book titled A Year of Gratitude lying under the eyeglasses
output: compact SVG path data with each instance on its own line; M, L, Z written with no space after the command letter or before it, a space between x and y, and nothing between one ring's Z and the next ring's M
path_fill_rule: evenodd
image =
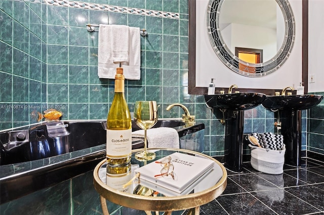
M161 175L161 169L163 166L157 162L165 160L166 157L171 157L171 163L174 166L174 179L170 175L167 177L158 176ZM172 190L176 193L182 193L214 165L214 161L211 159L179 152L175 152L166 157L158 159L157 162L151 162L135 170L135 173L140 173L139 179L143 185L145 183L143 181L147 181L151 184ZM156 175L157 177L154 177Z

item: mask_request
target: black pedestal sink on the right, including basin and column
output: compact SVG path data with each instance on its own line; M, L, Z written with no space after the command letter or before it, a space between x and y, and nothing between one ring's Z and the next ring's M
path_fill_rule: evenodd
M300 166L301 110L315 107L322 99L320 95L267 96L262 102L266 109L278 111L286 145L286 164Z

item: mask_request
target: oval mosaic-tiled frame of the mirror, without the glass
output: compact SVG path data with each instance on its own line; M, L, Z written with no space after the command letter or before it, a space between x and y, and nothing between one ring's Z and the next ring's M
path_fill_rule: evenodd
M262 77L277 70L288 59L295 41L295 18L287 0L276 0L285 20L285 37L278 53L270 60L252 64L240 60L225 45L219 26L219 16L225 0L210 0L207 11L207 30L211 45L219 59L232 71L248 76ZM239 64L244 65L245 71L239 70Z

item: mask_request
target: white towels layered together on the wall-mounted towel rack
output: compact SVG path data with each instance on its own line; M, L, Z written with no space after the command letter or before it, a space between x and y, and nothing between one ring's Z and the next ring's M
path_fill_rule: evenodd
M135 31L138 30L138 33ZM115 78L119 62L126 79L140 79L140 30L127 25L99 25L98 76Z

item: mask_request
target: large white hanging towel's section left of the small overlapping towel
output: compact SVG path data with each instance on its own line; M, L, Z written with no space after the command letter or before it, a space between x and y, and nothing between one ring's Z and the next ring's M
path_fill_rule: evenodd
M119 63L112 61L112 26L99 25L98 35L98 76L99 78L115 78Z

